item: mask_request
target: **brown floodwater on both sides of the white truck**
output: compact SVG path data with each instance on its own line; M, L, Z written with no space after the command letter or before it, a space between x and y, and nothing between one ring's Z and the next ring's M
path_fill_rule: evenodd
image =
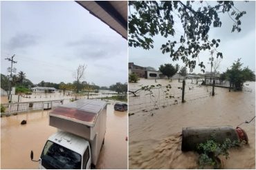
M50 111L33 111L1 118L1 169L38 169L30 160L41 155L46 140L57 129L48 125ZM26 125L20 125L27 120ZM127 169L127 111L107 105L107 132L98 160L98 169Z

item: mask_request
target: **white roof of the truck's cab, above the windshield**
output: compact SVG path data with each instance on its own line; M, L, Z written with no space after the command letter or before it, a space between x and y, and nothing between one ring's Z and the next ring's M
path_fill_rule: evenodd
M55 134L50 136L48 140L71 149L72 151L79 153L81 156L83 156L85 149L89 146L89 142L87 140L66 131L57 131Z

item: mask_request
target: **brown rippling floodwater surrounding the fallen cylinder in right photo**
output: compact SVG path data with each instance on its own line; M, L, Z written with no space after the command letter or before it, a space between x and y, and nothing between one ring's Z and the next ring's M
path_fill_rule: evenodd
M129 88L138 89L139 85L151 85L152 82L142 79L139 83L130 83ZM237 127L251 120L255 116L255 82L245 84L249 85L244 86L244 92L217 88L215 96L129 116L129 169L198 169L199 155L181 151L182 128ZM136 102L142 102L139 98L145 96L130 96L129 101L136 106ZM133 109L131 107L129 109ZM227 160L221 157L223 169L255 169L255 119L240 127L246 131L249 144L230 149Z

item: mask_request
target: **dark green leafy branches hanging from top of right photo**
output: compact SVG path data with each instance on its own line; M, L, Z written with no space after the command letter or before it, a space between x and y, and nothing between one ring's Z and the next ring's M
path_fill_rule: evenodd
M246 12L237 10L233 1L214 1L214 5L200 1L198 8L194 8L193 3L193 1L185 1L185 3L129 1L129 46L149 50L154 47L152 38L161 34L168 38L168 41L161 46L163 54L170 54L173 61L182 59L191 72L201 51L215 50L217 57L222 58L222 53L217 51L220 39L209 39L210 28L221 27L219 13L224 13L233 21L231 31L240 32L240 19ZM175 26L180 23L183 30L176 30ZM177 36L176 31L181 32L182 35ZM199 66L204 72L203 62L199 63Z

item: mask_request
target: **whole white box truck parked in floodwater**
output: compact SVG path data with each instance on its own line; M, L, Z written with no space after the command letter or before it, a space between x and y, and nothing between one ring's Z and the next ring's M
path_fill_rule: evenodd
M39 169L91 169L95 167L106 133L107 103L77 100L49 114L49 125L58 130L44 145Z

